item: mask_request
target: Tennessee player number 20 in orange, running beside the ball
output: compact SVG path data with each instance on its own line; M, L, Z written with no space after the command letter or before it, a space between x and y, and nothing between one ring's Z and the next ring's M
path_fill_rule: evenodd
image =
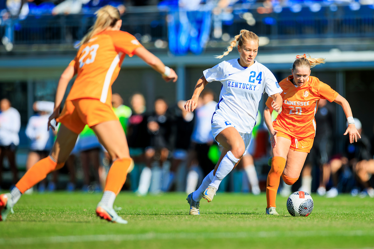
M273 158L266 182L266 214L278 215L275 199L280 177L286 184L292 185L300 176L313 145L316 133L314 115L320 99L334 101L343 107L349 124L344 135L349 134L350 143L357 142L357 137L361 138L347 100L317 77L310 76L310 68L321 63L325 63L322 58L307 58L305 54L297 56L292 66L292 75L279 82L283 89L283 104L274 122L271 118L272 99L267 99L264 120L270 132Z

